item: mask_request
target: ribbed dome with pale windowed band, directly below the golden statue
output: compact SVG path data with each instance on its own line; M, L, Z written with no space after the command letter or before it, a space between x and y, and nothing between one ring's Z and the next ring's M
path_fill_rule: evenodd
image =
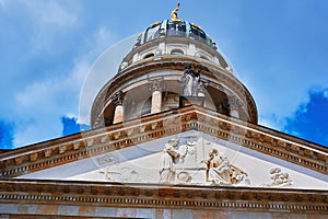
M133 64L167 55L200 58L232 72L215 43L200 26L183 20L164 20L154 22L138 36L131 51L122 59L118 74Z

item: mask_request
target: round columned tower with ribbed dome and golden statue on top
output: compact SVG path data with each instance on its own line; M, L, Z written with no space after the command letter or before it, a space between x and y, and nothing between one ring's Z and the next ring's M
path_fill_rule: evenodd
M178 9L179 4L171 20L155 22L139 35L94 101L93 128L188 105L257 123L247 88L212 38L197 24L177 18Z

